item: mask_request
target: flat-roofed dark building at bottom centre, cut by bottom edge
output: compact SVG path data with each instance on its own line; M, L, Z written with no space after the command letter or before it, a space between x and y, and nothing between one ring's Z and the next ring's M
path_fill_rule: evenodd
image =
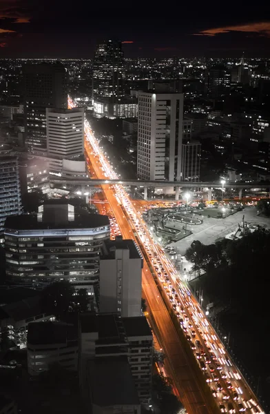
M127 357L88 361L87 388L89 414L141 414Z

